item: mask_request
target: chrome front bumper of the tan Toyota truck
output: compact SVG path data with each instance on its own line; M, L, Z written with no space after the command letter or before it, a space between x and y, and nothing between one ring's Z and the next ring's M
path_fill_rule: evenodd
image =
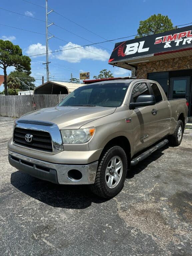
M58 184L93 184L98 166L98 161L85 165L56 164L8 150L9 163L18 170L28 173L36 178ZM82 174L80 179L69 177L70 170L77 170Z

